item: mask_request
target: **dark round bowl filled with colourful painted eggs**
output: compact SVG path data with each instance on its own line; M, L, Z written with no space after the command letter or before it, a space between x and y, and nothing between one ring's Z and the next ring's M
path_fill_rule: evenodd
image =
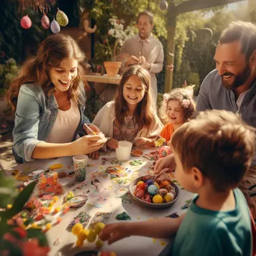
M139 204L151 208L165 208L174 204L179 196L179 189L171 179L156 178L151 175L138 177L129 185L132 198Z

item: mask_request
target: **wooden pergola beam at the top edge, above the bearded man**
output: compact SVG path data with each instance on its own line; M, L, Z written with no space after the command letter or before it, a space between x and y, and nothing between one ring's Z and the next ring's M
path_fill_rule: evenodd
M194 1L184 1L182 4L179 4L175 7L176 13L187 13L193 10L201 10L210 7L216 7L224 4L232 4L237 1L244 0L194 0Z

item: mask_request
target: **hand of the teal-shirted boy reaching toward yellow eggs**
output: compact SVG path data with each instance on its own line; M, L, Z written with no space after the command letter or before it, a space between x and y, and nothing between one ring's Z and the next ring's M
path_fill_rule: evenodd
M115 243L125 237L129 237L130 235L129 223L115 223L106 225L100 234L100 239L108 241L108 244L111 245L112 243Z

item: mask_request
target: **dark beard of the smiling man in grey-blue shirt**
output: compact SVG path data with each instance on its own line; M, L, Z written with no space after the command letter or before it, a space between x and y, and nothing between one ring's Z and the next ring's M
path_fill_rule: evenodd
M225 81L223 76L234 76L234 81L231 84L229 84L227 81ZM224 74L222 74L222 86L225 87L228 91L234 90L235 88L238 88L241 85L244 85L250 76L251 76L251 70L250 70L249 63L247 62L244 70L237 75L231 72L225 72Z

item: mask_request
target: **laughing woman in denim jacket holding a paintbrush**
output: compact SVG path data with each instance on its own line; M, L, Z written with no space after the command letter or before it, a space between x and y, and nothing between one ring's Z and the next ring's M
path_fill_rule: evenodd
M15 112L16 162L88 154L106 142L102 133L76 137L82 129L91 133L84 124L100 132L84 115L84 57L72 37L54 34L22 65L6 95Z

